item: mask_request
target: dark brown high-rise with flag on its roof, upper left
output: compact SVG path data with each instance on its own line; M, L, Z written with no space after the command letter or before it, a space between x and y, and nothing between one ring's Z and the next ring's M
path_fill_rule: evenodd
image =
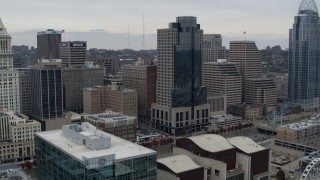
M59 44L61 42L62 31L47 29L38 32L37 35L37 51L38 59L58 59Z

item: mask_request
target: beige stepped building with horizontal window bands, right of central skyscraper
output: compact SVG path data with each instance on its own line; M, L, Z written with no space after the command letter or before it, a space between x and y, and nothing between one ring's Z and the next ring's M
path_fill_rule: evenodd
M242 102L242 80L238 64L228 62L204 63L203 85L210 94L225 94L227 106Z

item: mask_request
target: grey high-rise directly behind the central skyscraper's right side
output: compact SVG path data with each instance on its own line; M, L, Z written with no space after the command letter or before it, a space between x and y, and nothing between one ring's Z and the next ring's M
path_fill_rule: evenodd
M226 48L222 46L221 34L204 34L202 61L217 62L218 59L226 59Z

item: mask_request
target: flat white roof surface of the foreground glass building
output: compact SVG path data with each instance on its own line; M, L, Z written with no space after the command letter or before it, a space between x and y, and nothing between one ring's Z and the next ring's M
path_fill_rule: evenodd
M109 136L111 138L110 148L100 150L90 149L87 146L79 144L62 135L61 129L38 132L36 133L36 136L83 163L85 163L83 157L96 158L114 154L115 160L121 160L131 157L141 157L156 154L156 151L154 150L126 141L114 135L105 133L103 131L100 131L99 133L105 134L106 136Z

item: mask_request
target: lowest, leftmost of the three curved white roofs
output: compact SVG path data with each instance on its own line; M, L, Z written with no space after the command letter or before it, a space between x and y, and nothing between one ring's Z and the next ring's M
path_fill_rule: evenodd
M186 155L176 155L158 159L158 163L167 166L176 174L201 167L194 163L192 159Z

